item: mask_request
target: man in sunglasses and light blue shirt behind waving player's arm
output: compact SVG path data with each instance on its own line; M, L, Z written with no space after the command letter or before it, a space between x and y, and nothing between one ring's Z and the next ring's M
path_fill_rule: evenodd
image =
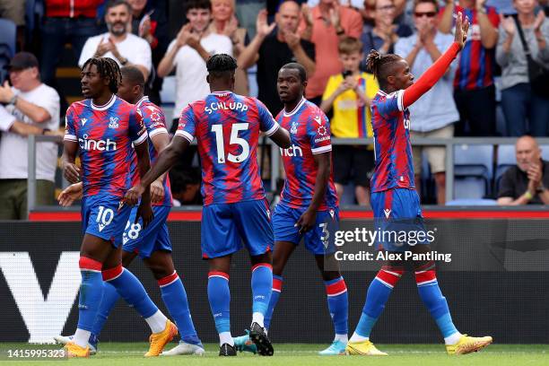
M414 5L415 33L398 39L395 53L405 58L415 77L421 76L454 41L454 36L437 30L439 6L436 0L416 0ZM454 123L459 120L453 98L453 80L457 62L422 98L410 106L412 138L451 138ZM413 146L415 187L421 192L422 155L426 153L437 187L437 203L446 201L446 149L444 147Z

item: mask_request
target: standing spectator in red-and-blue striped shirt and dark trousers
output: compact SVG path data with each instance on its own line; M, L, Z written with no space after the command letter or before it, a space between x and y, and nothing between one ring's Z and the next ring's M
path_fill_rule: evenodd
M494 50L498 42L500 18L495 9L485 6L486 0L447 0L440 17L439 30L450 33L453 14L461 12L471 26L463 51L459 56L454 98L459 112L456 135L495 135Z

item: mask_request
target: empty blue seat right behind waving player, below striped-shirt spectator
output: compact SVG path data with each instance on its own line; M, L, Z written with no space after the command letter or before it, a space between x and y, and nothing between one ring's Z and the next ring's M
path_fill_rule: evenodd
M454 146L454 197L483 198L492 192L493 146Z

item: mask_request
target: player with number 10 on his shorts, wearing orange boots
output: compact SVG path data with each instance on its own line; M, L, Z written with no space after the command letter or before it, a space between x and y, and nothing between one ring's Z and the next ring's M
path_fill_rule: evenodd
M82 69L85 100L74 102L66 111L65 178L83 183L83 242L79 267L82 274L78 303L78 326L71 342L65 344L69 357L87 357L90 339L103 296L103 281L146 320L153 335L145 356L158 356L178 333L178 328L154 305L135 275L121 264L122 238L132 208L124 195L131 187L134 150L141 177L150 168L147 130L139 111L118 98L121 80L117 63L111 58L93 57ZM132 147L132 145L135 147ZM75 164L80 153L81 167ZM144 226L153 219L150 188L138 207Z

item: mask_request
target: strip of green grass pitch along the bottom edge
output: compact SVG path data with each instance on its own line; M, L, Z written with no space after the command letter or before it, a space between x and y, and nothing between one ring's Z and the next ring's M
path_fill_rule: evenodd
M170 349L175 344L170 344ZM339 365L482 365L482 366L525 366L549 365L549 345L547 344L492 344L482 352L463 356L448 356L442 344L379 344L379 349L389 353L388 357L334 356L320 357L318 350L327 344L274 344L274 357L259 357L251 353L239 353L237 357L226 359L217 356L217 344L206 344L204 357L175 356L144 359L143 354L148 344L140 343L103 343L100 353L89 360L58 360L58 361L10 361L6 357L8 349L57 348L55 345L35 344L0 344L0 366L24 365L63 365L82 364L86 366L133 366L133 365L250 365L261 366L339 366ZM254 363L251 363L254 362ZM257 362L257 363L255 363Z

